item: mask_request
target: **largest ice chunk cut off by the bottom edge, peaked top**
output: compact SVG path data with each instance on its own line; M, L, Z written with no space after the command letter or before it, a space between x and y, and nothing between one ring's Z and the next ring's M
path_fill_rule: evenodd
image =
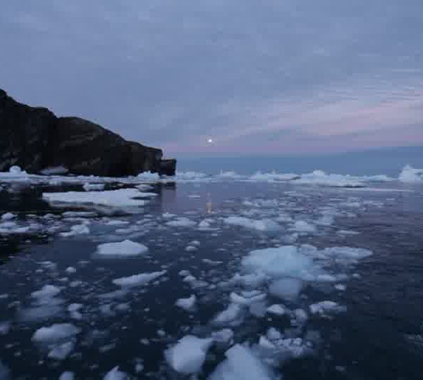
M209 380L271 380L276 376L250 348L235 344L226 351L227 359L209 376Z

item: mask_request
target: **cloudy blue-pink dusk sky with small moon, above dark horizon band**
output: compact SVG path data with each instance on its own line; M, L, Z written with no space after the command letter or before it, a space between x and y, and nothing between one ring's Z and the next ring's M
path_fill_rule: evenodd
M5 1L0 87L165 156L423 145L422 0Z

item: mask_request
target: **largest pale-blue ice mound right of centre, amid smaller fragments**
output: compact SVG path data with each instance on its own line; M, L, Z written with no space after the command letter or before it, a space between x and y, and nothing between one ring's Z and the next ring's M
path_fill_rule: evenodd
M303 278L313 269L312 259L303 255L295 246L251 251L241 263L246 270L260 271L270 277Z

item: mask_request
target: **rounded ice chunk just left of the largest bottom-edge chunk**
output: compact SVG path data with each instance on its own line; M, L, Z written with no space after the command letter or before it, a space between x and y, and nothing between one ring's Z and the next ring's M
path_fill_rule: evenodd
M180 374L196 374L201 371L207 350L213 339L184 336L175 346L165 351L166 362Z

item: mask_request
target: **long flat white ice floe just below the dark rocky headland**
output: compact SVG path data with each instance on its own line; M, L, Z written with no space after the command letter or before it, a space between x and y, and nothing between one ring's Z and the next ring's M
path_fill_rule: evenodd
M137 189L118 189L108 191L67 191L64 193L43 193L44 201L51 205L104 205L106 207L138 207L147 201L136 199L140 197Z

